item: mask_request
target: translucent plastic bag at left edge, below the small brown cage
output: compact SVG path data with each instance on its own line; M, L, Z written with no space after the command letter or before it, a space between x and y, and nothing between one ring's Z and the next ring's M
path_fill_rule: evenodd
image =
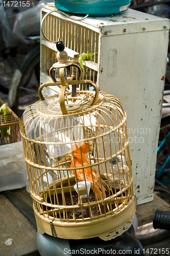
M28 181L26 161L21 142L0 146L0 191L26 186Z

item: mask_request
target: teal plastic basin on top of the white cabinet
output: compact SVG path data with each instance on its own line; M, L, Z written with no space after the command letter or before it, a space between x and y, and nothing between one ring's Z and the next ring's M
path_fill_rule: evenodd
M109 16L119 13L120 6L132 0L54 0L55 7L64 12L89 14L90 16Z

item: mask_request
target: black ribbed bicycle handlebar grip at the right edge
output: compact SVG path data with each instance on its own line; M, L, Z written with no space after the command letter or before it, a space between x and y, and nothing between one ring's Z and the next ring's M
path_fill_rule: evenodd
M170 230L170 212L156 210L154 214L153 228Z

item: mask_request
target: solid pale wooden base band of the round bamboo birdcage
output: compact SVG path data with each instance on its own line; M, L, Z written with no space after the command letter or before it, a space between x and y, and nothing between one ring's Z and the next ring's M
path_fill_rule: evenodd
M109 215L93 221L67 223L57 222L53 218L44 218L34 208L38 230L41 234L63 239L87 239L100 237L102 240L111 240L124 233L131 225L136 210L135 197L125 207ZM51 222L51 224L50 224ZM101 233L102 230L102 233Z

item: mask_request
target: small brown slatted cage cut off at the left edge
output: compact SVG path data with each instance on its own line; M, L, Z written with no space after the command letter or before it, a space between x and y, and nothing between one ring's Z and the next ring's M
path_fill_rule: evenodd
M3 104L4 101L0 99L0 108ZM0 112L0 145L21 141L19 118L9 107L8 111L9 115Z

